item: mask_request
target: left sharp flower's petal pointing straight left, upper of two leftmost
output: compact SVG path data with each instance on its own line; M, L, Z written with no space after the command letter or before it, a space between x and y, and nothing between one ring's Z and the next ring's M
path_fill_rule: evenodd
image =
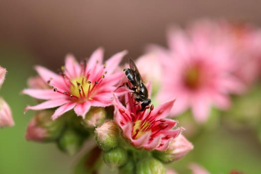
M53 89L24 89L22 93L37 99L65 98L64 94L55 92Z

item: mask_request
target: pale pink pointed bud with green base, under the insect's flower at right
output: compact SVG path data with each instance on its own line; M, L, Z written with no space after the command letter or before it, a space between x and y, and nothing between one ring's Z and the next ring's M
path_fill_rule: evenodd
M182 135L171 141L166 151L153 151L153 156L164 163L176 161L193 149L193 145Z

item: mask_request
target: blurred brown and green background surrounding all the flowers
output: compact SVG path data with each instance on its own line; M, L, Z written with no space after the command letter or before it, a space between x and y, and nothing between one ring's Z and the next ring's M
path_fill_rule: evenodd
M24 114L23 110L34 101L20 91L28 77L36 75L35 64L55 71L68 52L81 59L99 46L105 48L106 58L127 49L128 57L135 59L147 43L166 44L165 30L170 23L184 24L207 16L258 25L260 6L261 2L255 0L1 1L0 65L8 73L0 96L9 103L15 126L0 129L0 174L72 173L75 157L60 152L54 144L26 142L24 138L34 111ZM261 103L260 99L255 102ZM249 123L234 125L233 117L226 121L215 116L212 119L188 137L194 150L171 167L189 174L187 165L194 162L211 174L232 170L260 174L261 143L256 130Z

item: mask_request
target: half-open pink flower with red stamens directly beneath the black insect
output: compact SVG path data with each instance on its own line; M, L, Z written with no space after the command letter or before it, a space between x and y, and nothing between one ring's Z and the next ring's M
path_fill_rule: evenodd
M179 135L181 128L173 130L177 121L166 119L174 100L157 108L153 105L141 110L131 93L126 94L126 107L115 97L114 120L126 139L136 148L165 151L170 142Z

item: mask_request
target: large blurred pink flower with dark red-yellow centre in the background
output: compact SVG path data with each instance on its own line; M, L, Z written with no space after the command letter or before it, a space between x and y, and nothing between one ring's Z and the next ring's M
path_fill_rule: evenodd
M206 121L212 106L228 109L229 94L244 90L233 75L236 65L230 42L208 35L204 30L193 33L193 28L189 32L172 28L168 33L170 50L158 48L164 70L159 101L176 98L171 113L191 108L197 122Z

